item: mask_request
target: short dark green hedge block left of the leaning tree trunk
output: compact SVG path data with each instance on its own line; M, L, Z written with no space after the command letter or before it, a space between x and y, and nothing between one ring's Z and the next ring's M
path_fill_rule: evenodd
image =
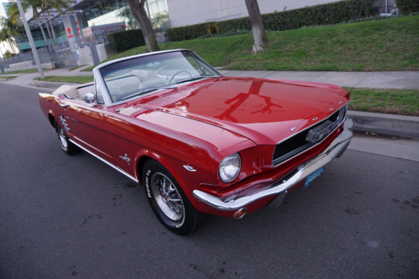
M133 47L145 45L144 36L142 36L142 31L140 29L109 33L106 36L108 37L110 46L117 53L131 50Z

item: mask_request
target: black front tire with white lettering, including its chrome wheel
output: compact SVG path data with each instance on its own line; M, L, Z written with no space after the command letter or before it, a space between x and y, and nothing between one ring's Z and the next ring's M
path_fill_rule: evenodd
M145 195L160 222L179 235L203 225L205 213L193 207L175 178L156 160L148 160L142 172Z

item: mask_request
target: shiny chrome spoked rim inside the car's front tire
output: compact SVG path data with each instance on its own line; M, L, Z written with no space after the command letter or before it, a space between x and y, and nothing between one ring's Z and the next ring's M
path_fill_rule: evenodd
M184 216L182 197L168 176L161 172L154 173L150 186L154 199L156 199L156 203L161 211L175 222L182 220Z

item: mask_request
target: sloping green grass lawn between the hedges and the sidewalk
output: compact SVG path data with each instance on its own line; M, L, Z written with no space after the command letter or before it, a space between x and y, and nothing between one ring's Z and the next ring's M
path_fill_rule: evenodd
M419 70L419 15L268 31L267 37L267 50L258 54L251 52L251 34L184 40L159 47L193 50L210 65L224 70ZM135 47L106 61L145 51L145 47Z

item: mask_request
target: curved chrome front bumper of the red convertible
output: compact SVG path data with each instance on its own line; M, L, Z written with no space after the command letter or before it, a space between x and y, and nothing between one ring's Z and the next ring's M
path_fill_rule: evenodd
M298 166L297 169L295 169L292 174L286 176L286 178L273 183L271 186L267 186L267 188L260 190L258 193L252 195L240 195L240 193L236 193L230 197L220 198L201 190L194 190L193 196L200 200L200 202L204 202L205 204L214 207L214 209L219 209L221 211L236 211L252 202L256 202L258 199L285 193L287 190L297 185L297 183L300 183L300 181L307 179L310 174L316 172L325 165L328 165L328 163L336 157L341 156L353 137L352 127L353 121L351 119L346 119L343 132L337 136L325 151Z

